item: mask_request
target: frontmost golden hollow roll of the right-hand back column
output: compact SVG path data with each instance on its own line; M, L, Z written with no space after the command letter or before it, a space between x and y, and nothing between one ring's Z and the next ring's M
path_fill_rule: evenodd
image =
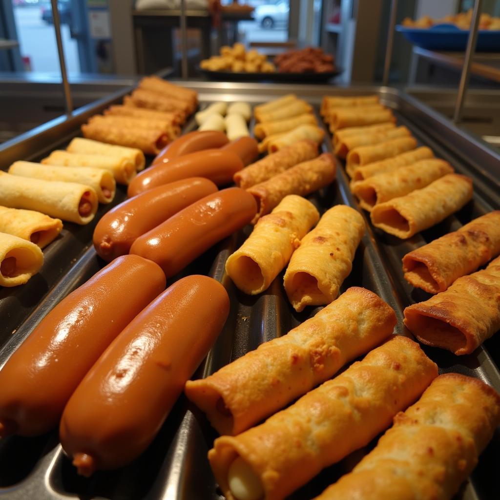
M422 189L375 205L370 214L371 222L405 239L437 224L471 198L472 180L465 175L448 173Z

